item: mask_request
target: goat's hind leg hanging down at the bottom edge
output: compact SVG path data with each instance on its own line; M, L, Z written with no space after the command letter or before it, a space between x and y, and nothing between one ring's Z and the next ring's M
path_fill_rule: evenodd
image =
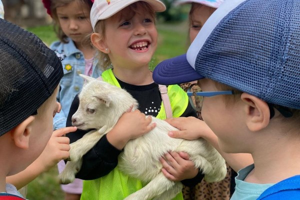
M146 186L130 194L124 200L149 200L156 196L159 196L156 199L169 200L175 197L181 189L180 182L171 181L160 172Z

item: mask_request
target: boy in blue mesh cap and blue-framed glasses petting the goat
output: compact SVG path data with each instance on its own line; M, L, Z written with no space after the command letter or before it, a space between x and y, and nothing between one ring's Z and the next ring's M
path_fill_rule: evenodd
M184 137L204 137L226 161L251 154L254 164L235 167L231 199L300 198L299 16L298 0L225 1L186 55L153 71L159 84L198 80L203 90L188 95L203 96L202 117L213 132L193 118L172 120Z

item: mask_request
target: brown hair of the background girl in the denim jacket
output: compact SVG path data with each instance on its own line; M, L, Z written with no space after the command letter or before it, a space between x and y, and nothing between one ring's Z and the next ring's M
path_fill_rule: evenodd
M63 43L67 43L67 40L66 40L67 36L64 34L64 32L62 31L62 29L59 25L56 8L67 5L68 3L72 2L72 1L74 1L74 0L51 0L50 11L51 11L51 16L53 18L53 28L56 33L56 36ZM91 9L92 2L90 0L76 0L76 1L78 1L78 3L82 3L86 6L88 6L88 8ZM85 39L84 39L84 41L85 41Z

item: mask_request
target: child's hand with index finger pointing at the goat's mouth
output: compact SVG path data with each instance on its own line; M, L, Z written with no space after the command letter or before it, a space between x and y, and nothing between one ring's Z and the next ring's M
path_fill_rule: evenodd
M46 147L36 159L43 168L42 171L49 170L61 159L66 159L69 156L70 140L64 135L68 132L74 132L76 129L75 126L70 126L53 131Z

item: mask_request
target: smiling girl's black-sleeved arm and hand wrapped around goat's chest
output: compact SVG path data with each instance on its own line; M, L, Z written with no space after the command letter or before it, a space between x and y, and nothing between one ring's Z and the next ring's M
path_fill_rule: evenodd
M71 125L71 116L77 110L78 105L79 100L76 96L71 104L66 126ZM76 177L90 180L109 173L117 165L117 156L122 152L121 149L126 141L129 138L137 137L154 128L155 124L150 124L150 122L151 118L145 118L145 115L138 110L124 113L115 127L83 155L83 162ZM132 125L132 123L134 123L134 125ZM70 138L70 143L72 143L81 138L86 132L88 132L88 130L77 130L67 136Z

